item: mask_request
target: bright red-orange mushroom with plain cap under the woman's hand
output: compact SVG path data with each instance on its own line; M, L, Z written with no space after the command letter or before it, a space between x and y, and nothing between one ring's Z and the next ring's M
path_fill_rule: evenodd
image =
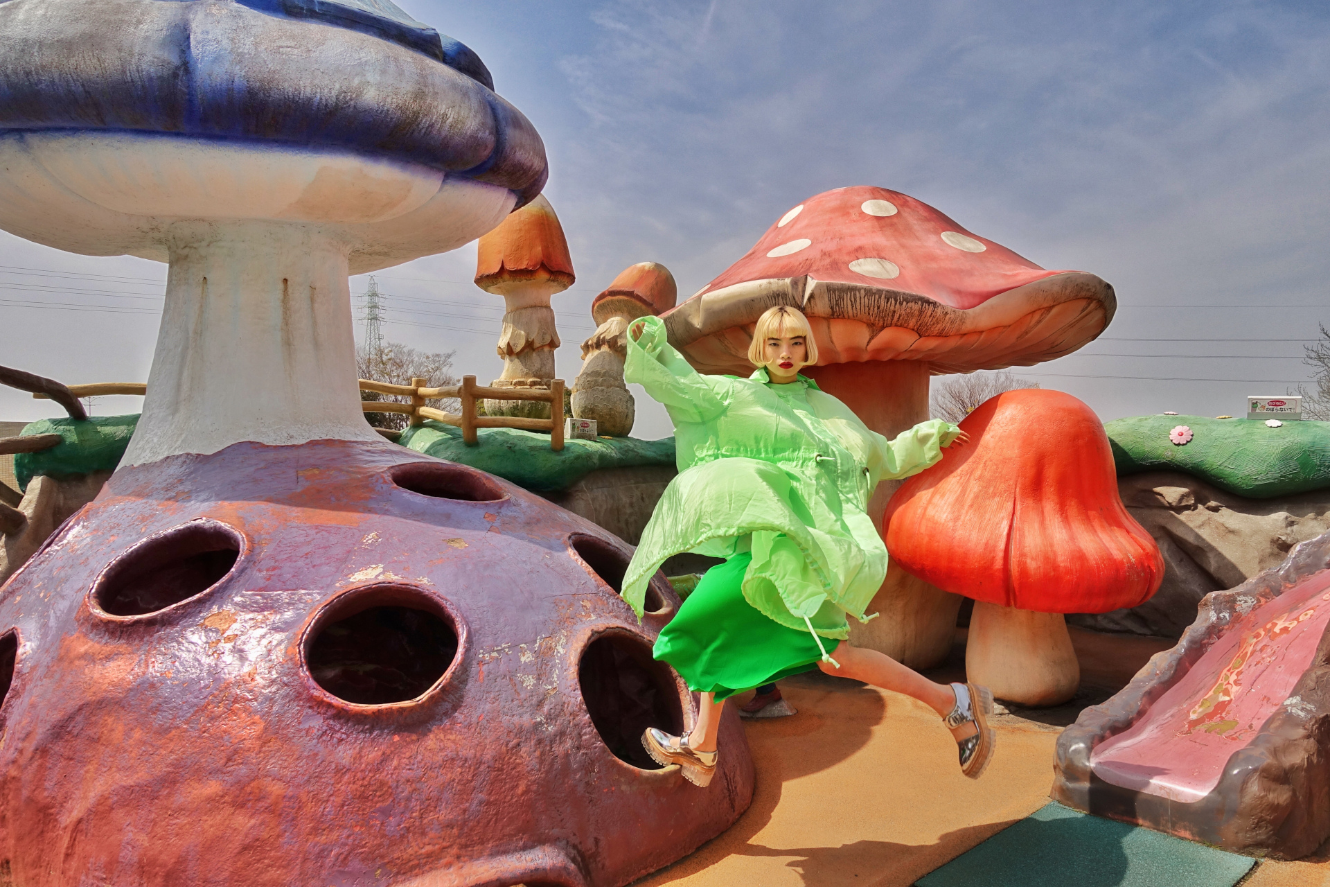
M1080 668L1063 614L1142 604L1164 557L1123 505L1104 426L1076 398L1007 391L960 428L971 445L947 449L891 497L891 557L974 598L971 681L1012 702L1065 702Z

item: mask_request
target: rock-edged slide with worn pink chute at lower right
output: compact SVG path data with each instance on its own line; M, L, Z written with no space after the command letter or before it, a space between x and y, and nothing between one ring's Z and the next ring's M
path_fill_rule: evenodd
M1052 795L1252 855L1330 836L1330 533L1205 597L1182 640L1057 741Z

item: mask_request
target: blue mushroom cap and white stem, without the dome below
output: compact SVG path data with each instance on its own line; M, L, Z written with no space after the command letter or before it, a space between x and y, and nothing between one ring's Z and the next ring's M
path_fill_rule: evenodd
M0 226L170 262L125 464L374 439L347 274L456 249L545 181L475 53L382 0L8 0L0 35Z

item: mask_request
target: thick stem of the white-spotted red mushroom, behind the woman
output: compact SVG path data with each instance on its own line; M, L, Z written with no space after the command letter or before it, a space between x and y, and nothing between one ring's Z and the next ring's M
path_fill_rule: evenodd
M928 418L928 364L922 360L834 363L809 367L805 374L887 439ZM882 513L900 484L882 481L868 500L868 517L883 537ZM932 668L951 650L962 600L891 565L867 609L880 618L851 624L850 641L914 669Z

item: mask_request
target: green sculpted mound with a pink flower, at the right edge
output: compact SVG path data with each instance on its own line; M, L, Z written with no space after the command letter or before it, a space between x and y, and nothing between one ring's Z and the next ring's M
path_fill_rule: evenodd
M1182 445L1177 426L1192 430ZM1330 487L1330 422L1285 422L1269 428L1254 419L1132 416L1104 424L1117 473L1181 471L1221 489L1270 499Z

